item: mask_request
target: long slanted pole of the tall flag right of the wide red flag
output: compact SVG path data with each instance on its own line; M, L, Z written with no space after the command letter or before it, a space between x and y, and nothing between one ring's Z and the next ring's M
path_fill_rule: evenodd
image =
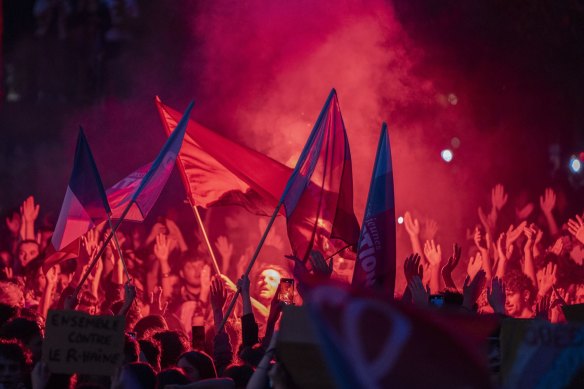
M264 242L265 242L266 238L268 237L268 233L270 232L270 229L272 228L272 224L274 224L274 220L276 220L276 216L278 216L278 213L280 212L280 208L282 207L282 204L284 204L284 199L286 198L286 195L288 194L288 191L290 190L292 183L294 182L294 179L296 178L296 176L300 172L300 167L302 167L302 165L304 164L304 161L306 160L306 158L308 156L310 148L312 147L312 144L314 143L314 140L316 139L316 130L320 126L320 122L324 118L324 116L326 114L326 110L327 110L331 100L336 95L336 93L337 93L337 91L334 88L331 89L331 92L329 93L329 95L326 99L326 102L325 102L324 106L322 107L322 110L320 111L318 118L316 119L316 122L314 123L314 127L312 128L312 131L310 132L310 135L308 136L308 140L306 141L306 144L304 145L304 148L302 149L302 153L300 154L300 157L298 158L298 162L296 162L296 166L294 167L294 171L292 172L292 174L290 175L290 178L288 179L288 182L286 183L286 187L284 188L284 192L282 193L282 196L280 197L280 201L278 202L278 205L276 206L276 209L274 210L274 213L272 214L272 217L270 218L270 221L268 222L266 230L264 231L264 234L262 235L262 238L260 239L258 246L256 247L256 250L255 250L255 252L254 252L254 254L249 262L249 265L247 266L247 269L245 271L246 277L249 276L249 273L251 272L251 269L252 269L258 255L260 253L260 250L262 249L262 246L264 245ZM233 299L229 303L229 307L227 308L227 313L223 316L223 320L221 321L221 324L219 325L219 328L217 329L217 333L219 333L219 332L221 332L221 330L223 330L223 327L225 326L225 323L227 322L227 318L229 317L229 315L231 315L231 312L233 311L233 308L235 307L235 303L237 302L237 296L239 296L240 293L241 293L241 289L237 288L237 291L235 292Z

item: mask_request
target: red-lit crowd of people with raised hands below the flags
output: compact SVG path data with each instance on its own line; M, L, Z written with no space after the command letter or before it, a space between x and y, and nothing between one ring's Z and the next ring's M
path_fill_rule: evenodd
M472 245L463 250L454 244L451 254L443 254L434 239L436 223L420 223L405 213L412 254L403 267L398 260L403 273L398 272L395 300L432 314L448 309L565 322L562 307L584 303L584 215L557 220L552 189L545 190L538 206L528 203L513 212L508 198L496 185L490 212L479 208ZM310 289L303 273L344 279L334 274L333 262L340 259L327 261L318 252L306 263L294 257L260 261L249 277L241 276L249 258L232 261L228 238L215 243L215 266L206 246L187 242L167 217L158 218L148 234L118 231L119 247L112 241L90 268L109 233L97 227L82 237L78 256L47 269L52 228L40 225L39 211L32 196L9 211L0 240L4 388L294 387L294 376L278 358L280 280L296 279L294 303L302 305ZM75 296L72 291L86 271L87 282ZM235 273L236 282L230 278ZM235 310L217 331L236 290L241 293ZM111 377L51 374L42 357L51 309L125 316L118 372Z

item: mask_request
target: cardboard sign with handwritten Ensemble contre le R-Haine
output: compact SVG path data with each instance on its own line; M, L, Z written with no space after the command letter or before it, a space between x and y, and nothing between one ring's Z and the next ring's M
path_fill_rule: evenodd
M52 373L112 375L123 362L124 328L123 316L51 310L43 361Z

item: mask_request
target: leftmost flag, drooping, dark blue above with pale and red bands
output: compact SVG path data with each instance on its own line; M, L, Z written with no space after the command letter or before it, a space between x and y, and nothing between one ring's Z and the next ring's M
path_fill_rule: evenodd
M56 251L85 234L111 212L83 129L79 129L73 171L51 243Z

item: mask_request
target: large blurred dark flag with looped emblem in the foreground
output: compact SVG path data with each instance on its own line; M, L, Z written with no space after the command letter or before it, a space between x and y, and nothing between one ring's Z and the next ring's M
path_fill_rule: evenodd
M314 289L307 305L336 387L491 387L483 348L495 316L437 314L333 285Z

